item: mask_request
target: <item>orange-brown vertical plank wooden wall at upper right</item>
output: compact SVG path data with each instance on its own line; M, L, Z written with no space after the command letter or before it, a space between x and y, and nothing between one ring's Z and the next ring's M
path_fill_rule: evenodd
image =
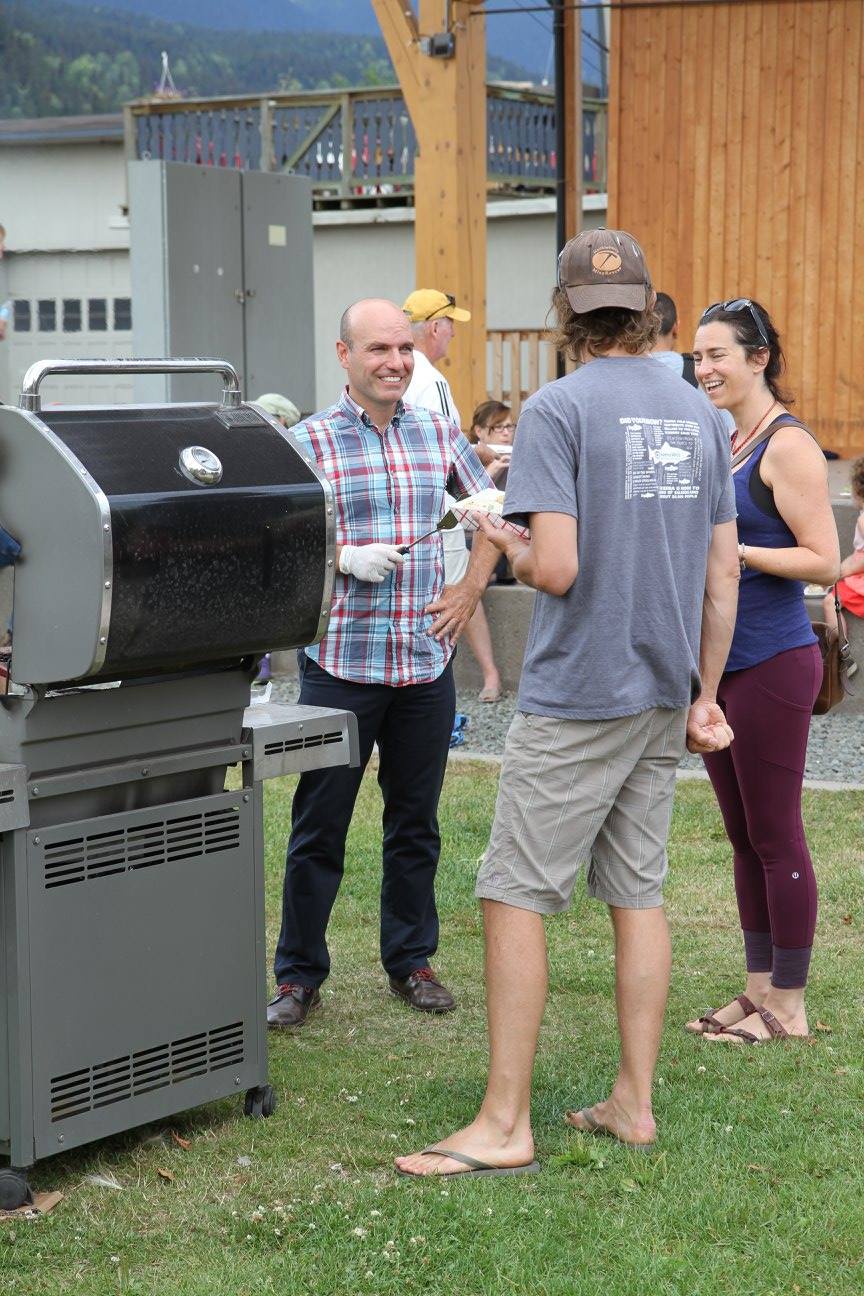
M864 454L864 0L613 10L609 224L675 298L780 328L795 412Z

